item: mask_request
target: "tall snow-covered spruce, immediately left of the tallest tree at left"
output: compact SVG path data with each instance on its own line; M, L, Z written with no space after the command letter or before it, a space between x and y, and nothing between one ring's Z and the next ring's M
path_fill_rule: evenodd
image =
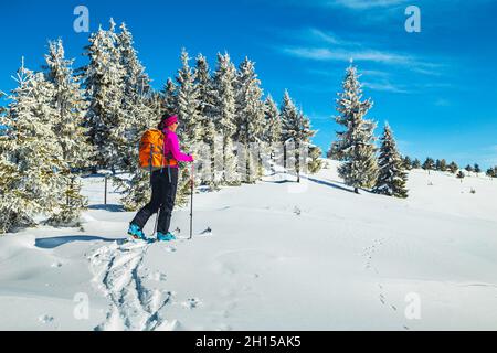
M45 55L45 78L53 85L54 95L50 103L54 110L52 121L56 142L62 148L62 159L67 168L61 171L67 180L65 200L61 212L53 215L52 225L77 225L81 212L86 207L86 199L81 194L81 181L75 170L88 167L93 150L83 127L86 103L81 88L80 77L74 75L72 60L66 60L62 41L49 43Z

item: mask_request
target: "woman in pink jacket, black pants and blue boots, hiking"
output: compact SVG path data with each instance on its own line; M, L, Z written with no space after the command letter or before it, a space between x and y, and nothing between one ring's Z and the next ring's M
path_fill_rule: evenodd
M152 214L159 210L159 222L157 225L157 240L170 242L176 237L169 232L171 224L172 210L175 207L176 192L178 188L178 162L193 162L193 157L184 154L180 151L178 136L178 117L172 116L162 118L158 129L163 132L163 156L167 158L166 168L152 172L151 185L152 195L151 201L141 208L131 221L128 234L137 239L146 239L144 234L145 224Z

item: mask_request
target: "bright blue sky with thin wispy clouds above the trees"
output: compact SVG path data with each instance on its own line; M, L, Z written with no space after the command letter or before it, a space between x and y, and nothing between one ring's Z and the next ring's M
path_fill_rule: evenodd
M78 4L89 10L91 31L110 17L127 23L157 88L175 75L182 46L212 67L218 52L235 63L246 55L266 94L279 101L289 89L327 150L338 128L336 93L353 57L374 100L378 136L389 121L405 154L497 165L497 1L2 1L1 90L13 88L21 56L40 68L51 39L63 39L75 66L85 63L87 33L73 30ZM421 9L421 33L404 30L410 4Z

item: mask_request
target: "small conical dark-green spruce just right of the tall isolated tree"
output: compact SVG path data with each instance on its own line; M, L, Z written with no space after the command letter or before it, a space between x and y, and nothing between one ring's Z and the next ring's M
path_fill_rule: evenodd
M408 173L405 172L403 160L396 149L390 126L385 124L384 132L381 137L381 148L379 158L379 175L373 189L374 193L395 196L400 199L408 197Z

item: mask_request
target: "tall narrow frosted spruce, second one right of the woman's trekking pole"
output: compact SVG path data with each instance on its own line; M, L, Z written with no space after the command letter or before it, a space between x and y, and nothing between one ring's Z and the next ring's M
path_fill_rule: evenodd
M214 73L214 122L216 131L222 136L222 173L220 182L225 185L240 185L236 170L236 157L233 148L235 132L235 82L236 69L230 55L218 54L218 66ZM216 176L218 179L218 176Z

